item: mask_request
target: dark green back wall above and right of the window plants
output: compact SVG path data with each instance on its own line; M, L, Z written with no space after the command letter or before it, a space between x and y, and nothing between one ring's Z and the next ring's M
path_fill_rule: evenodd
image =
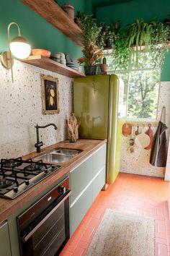
M122 27L125 27L125 25L128 25L128 23L133 22L137 18L143 18L146 21L154 17L164 19L168 14L170 14L169 0L135 0L96 9L98 22L103 20L109 24L112 20L121 20ZM166 54L161 81L170 81L170 52Z

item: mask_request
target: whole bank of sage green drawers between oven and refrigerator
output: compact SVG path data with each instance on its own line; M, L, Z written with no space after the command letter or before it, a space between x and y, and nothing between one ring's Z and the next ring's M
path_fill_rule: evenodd
M99 194L106 179L106 144L92 153L70 172L71 234Z

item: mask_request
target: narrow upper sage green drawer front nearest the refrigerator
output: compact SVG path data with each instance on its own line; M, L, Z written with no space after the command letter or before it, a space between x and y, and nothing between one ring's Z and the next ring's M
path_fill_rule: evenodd
M106 164L106 144L93 155L93 176Z

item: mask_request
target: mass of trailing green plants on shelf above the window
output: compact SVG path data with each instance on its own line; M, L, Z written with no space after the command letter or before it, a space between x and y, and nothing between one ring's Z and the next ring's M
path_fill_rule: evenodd
M168 48L169 28L159 20L146 23L141 19L128 25L113 45L113 54L118 60L115 66L127 67L130 56L138 62L138 53L145 51L151 57L153 67L161 67Z

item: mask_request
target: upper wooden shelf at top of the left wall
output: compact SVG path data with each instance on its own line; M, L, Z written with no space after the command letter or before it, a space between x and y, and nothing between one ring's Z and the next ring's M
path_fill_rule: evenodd
M82 46L82 30L54 0L21 0L68 38Z

